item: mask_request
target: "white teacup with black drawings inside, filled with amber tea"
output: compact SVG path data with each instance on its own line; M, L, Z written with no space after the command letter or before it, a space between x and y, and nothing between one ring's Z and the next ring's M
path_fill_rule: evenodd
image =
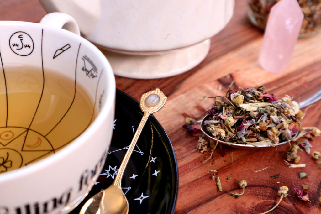
M96 111L97 117L92 119L92 123L90 125L88 123L89 126L85 127L81 133L62 137L64 143L69 141L70 143L61 150L55 151L55 146L52 146L52 150L48 150L47 153L43 149L37 150L37 146L45 148L44 143L48 136L34 128L36 125L31 125L31 122L39 117L37 112L45 106L44 103L54 102L55 98L42 101L41 98L44 97L41 93L39 100L27 100L23 105L34 105L36 107L34 116L29 127L15 127L13 124L16 121L12 119L15 115L10 114L12 95L7 95L6 99L5 96L2 97L4 99L1 99L0 129L2 130L0 132L6 129L5 132L9 134L0 133L1 214L68 213L90 191L104 165L109 149L116 93L115 78L110 64L99 49L79 36L78 26L72 17L61 13L57 13L55 17L56 19L52 19L50 16L45 16L39 24L0 21L2 64L0 92L6 94L6 90L12 90L10 84L17 84L21 90L32 91L42 88L42 92L45 93L44 85L56 83L59 85L59 81L53 83L48 81L48 71L54 70L55 73L69 76L74 81L74 87L82 86L87 91L92 100L92 112ZM21 77L10 75L12 66L17 68L32 66L37 70L35 73L40 76L40 79L33 76L35 73L25 73ZM10 78L16 79L10 80ZM63 93L65 86L59 87ZM57 119L60 121L52 123L50 129L59 128L65 118L73 114L73 105L78 95L74 92L71 96L74 96L75 102L72 101L70 107L65 108L65 113L63 112L61 118ZM21 104L22 107L23 105ZM7 113L4 110L5 106ZM48 110L47 113L49 114L50 111ZM77 116L73 116L73 119L77 119ZM72 125L77 125L76 123L78 122L73 122ZM69 128L70 126L63 129L69 132ZM27 151L24 149L27 144L23 143L21 150L13 151L9 148L12 143L18 143L14 140L19 138L16 135L19 134L17 130L39 135L38 141L42 140L43 147L38 144L29 145L30 148L39 152L37 154L43 156L53 154L39 161L36 160L41 155L32 156L32 161L26 163L23 154L31 151L30 148L29 150L27 148ZM20 133L20 136L23 136L23 133ZM9 138L13 140L9 142L7 140ZM24 141L26 139L27 137ZM15 162L10 159L11 153L20 155L22 159L19 163L21 168L9 171L9 168L15 165Z

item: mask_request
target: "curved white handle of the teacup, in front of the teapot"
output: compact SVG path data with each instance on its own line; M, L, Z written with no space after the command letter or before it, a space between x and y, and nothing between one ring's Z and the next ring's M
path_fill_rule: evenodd
M80 30L76 20L66 13L48 13L41 19L39 23L69 30L80 36Z

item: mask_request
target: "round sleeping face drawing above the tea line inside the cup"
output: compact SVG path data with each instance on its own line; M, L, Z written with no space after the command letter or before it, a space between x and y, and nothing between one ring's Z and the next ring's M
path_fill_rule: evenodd
M33 51L33 40L28 33L18 31L11 35L9 46L15 54L28 56Z

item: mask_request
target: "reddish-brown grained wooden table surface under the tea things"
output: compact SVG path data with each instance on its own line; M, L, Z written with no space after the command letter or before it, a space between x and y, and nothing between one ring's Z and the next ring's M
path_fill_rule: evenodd
M116 76L116 85L135 99L160 88L168 97L156 113L173 144L179 170L179 190L175 213L260 213L272 208L280 186L289 187L289 196L271 213L321 213L321 168L317 160L299 151L305 168L285 165L287 148L245 150L222 146L213 153L212 163L202 163L209 153L197 152L197 139L182 128L186 116L199 120L213 104L206 96L224 95L230 82L237 87L257 87L282 98L303 100L321 88L321 33L299 39L290 67L281 74L265 72L258 64L263 33L253 27L246 16L246 1L237 0L232 20L211 38L210 52L204 61L190 71L157 80L136 80ZM39 22L46 12L37 0L0 0L0 20ZM221 85L222 89L219 90ZM308 108L303 126L321 129L321 101ZM305 108L306 109L306 108ZM305 110L303 109L303 111ZM311 141L311 151L321 151L321 138ZM267 169L256 172L257 170ZM223 189L240 192L239 181L246 180L245 194L235 199L219 192L214 175L217 170ZM300 179L299 172L307 177ZM279 178L270 176L279 174ZM227 178L230 179L228 180ZM308 185L309 201L295 197L295 188Z

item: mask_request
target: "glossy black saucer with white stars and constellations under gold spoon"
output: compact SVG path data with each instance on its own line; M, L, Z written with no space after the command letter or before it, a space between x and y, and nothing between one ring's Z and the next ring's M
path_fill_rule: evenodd
M79 213L91 196L112 184L142 116L139 103L117 89L115 129L105 166L91 192L71 213ZM166 132L154 116L147 121L137 141L122 187L129 202L129 213L174 213L177 160Z

